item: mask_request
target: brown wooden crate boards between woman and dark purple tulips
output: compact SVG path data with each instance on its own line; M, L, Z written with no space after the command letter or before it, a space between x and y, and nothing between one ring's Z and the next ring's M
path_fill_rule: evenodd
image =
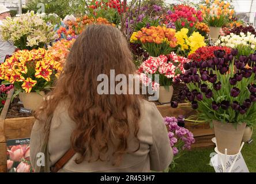
M194 109L191 108L191 106L189 106L189 104L179 104L178 108L171 108L170 104L159 105L157 106L157 109L163 117L178 117L179 115L183 115L188 118L191 115L197 113ZM186 122L185 128L189 129L189 131L194 135L195 143L192 144L192 148L214 147L215 144L212 142L214 131L210 128L208 123Z

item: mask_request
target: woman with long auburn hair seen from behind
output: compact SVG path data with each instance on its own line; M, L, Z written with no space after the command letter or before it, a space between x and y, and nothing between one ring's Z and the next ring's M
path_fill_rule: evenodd
M136 94L99 94L97 76L135 74L122 33L90 25L71 48L63 72L39 110L31 134L31 162L48 133L53 166L70 148L76 154L60 172L163 171L173 154L155 104ZM51 118L47 132L46 122Z

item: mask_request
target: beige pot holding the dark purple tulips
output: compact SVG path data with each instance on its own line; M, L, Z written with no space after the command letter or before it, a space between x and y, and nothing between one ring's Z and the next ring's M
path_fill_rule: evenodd
M246 123L238 124L235 128L234 124L213 120L213 127L218 151L225 154L227 148L228 155L238 154Z

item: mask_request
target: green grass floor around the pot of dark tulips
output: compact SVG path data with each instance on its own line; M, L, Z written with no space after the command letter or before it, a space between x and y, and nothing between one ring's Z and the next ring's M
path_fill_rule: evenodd
M243 158L250 173L256 173L256 126L254 127L253 142L245 143L242 149ZM209 165L210 153L214 148L198 148L186 152L185 155L176 160L176 167L170 171L172 173L211 173L214 168Z

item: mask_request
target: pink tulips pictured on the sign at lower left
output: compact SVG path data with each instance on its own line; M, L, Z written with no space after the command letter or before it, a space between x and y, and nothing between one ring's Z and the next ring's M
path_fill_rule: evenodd
M34 172L30 162L29 144L10 145L7 147L7 171L9 173Z

